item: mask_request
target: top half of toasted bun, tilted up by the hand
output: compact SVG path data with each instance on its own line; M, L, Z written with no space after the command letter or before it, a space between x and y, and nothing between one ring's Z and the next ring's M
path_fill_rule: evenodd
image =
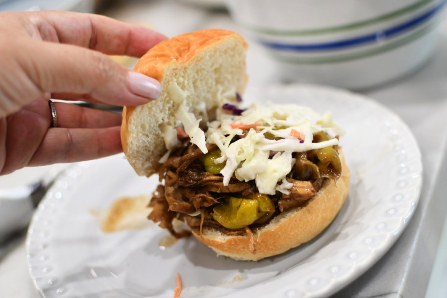
M151 175L167 152L163 125L175 126L178 102L169 86L178 85L186 105L198 118L212 114L225 100L235 100L247 82L245 52L247 44L237 33L202 30L165 40L149 50L135 71L160 81L158 99L123 110L121 140L127 160L139 175Z

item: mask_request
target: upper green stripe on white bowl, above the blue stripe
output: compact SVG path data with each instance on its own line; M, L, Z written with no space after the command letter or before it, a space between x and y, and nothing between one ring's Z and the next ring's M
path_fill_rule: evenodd
M326 27L326 28L309 29L309 30L276 30L276 29L267 29L267 28L256 27L256 26L251 26L251 25L244 25L244 24L243 24L243 26L249 30L254 31L254 32L266 34L266 35L303 36L303 35L327 34L327 33L334 33L334 32L358 29L360 27L377 24L377 23L380 23L383 21L388 21L390 19L400 17L406 13L415 11L415 10L421 8L422 6L427 5L429 3L433 3L435 1L436 0L421 0L419 2L412 4L412 5L398 9L398 10L390 12L388 14L384 14L377 18L373 18L373 19L365 20L365 21L361 21L361 22L356 22L356 23L351 23L351 24L347 24L347 25L335 26L335 27Z

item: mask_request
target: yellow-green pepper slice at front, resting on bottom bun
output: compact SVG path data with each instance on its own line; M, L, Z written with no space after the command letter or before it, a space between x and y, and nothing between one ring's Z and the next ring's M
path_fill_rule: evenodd
M247 198L227 197L213 208L212 217L228 229L240 229L250 224L263 224L274 213L272 200L263 194Z

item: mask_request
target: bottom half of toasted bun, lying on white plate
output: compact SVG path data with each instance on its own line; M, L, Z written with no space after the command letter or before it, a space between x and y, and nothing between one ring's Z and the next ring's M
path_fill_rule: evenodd
M317 196L304 207L282 212L253 232L254 253L248 236L227 236L210 228L203 228L201 235L193 230L193 235L218 255L243 261L277 255L313 239L334 220L348 196L350 173L342 152L340 158L343 168L336 183L326 179Z

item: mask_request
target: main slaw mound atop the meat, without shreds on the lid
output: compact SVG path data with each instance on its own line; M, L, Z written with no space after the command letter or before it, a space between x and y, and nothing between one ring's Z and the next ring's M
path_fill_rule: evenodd
M254 104L240 116L225 113L217 115L218 121L208 127L206 142L216 144L222 152L221 157L215 160L216 163L226 161L221 171L224 185L228 185L234 174L240 181L255 180L262 194L274 195L276 191L287 194L293 185L286 180L286 175L295 163L292 152L338 145L338 139L335 138L337 127L330 113L321 116L307 107ZM250 128L248 132L239 128L253 124L256 127ZM292 129L299 132L301 139L292 136ZM312 143L313 134L322 130L333 138ZM233 141L235 136L241 138ZM273 157L272 152L275 153Z

